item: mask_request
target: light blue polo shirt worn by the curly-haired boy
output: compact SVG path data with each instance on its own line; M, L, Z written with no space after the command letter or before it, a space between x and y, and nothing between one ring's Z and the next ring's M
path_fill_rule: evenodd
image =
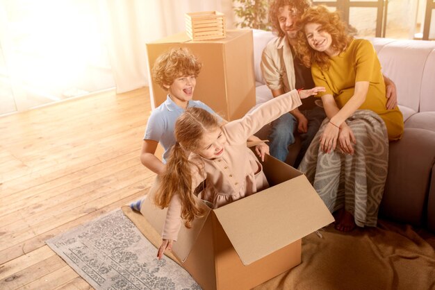
M188 108L190 107L202 108L211 114L216 114L210 107L208 107L208 105L202 103L202 101L190 100L188 101ZM143 139L160 142L165 150L162 156L163 163L166 163L167 157L170 153L170 148L175 144L175 121L177 121L177 118L183 114L183 112L184 109L174 103L168 95L166 101L155 108L151 112L151 116L149 116L147 129L145 130L145 136Z

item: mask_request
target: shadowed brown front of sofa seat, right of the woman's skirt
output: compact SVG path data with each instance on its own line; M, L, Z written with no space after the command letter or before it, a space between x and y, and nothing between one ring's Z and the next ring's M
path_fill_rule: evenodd
M380 214L421 225L435 162L435 132L405 128L400 141L391 142L388 176Z

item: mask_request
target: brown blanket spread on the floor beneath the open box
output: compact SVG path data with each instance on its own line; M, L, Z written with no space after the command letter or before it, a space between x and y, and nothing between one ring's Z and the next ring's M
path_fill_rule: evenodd
M160 246L160 234L142 214L128 206L122 210L152 244ZM254 289L435 289L432 234L419 235L409 225L387 221L350 233L329 225L320 233L322 238L313 233L302 239L302 264Z

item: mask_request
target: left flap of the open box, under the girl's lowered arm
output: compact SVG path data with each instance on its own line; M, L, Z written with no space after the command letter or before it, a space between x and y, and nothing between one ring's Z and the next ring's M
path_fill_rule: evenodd
M149 224L156 229L159 234L162 234L163 227L165 226L167 208L161 210L154 205L154 202L152 201L152 196L154 196L154 193L157 189L157 180L158 178L156 178L156 182L154 182L153 187L151 187L149 190L147 198L145 198L143 201L140 212L143 216L145 216L145 219L147 219ZM199 233L201 232L202 227L204 226L204 223L211 212L210 207L206 206L202 202L199 204L205 211L204 216L194 219L191 223L192 228L186 228L183 223L179 231L178 239L172 246L172 252L175 256L177 256L178 259L181 260L181 262L186 261L192 246L195 244L195 241L197 240Z

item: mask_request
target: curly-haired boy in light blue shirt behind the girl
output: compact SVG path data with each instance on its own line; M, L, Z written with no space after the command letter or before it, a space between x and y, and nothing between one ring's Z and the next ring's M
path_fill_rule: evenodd
M151 112L142 143L140 162L157 174L163 173L170 148L175 144L174 124L177 118L190 107L202 108L216 114L202 101L193 101L193 92L202 63L186 48L173 48L154 62L151 70L155 83L167 90L166 101ZM222 118L218 117L221 121ZM259 141L251 136L249 141ZM156 157L157 144L161 143L165 152L161 160ZM263 159L269 153L269 146L261 143L256 146L257 154Z

